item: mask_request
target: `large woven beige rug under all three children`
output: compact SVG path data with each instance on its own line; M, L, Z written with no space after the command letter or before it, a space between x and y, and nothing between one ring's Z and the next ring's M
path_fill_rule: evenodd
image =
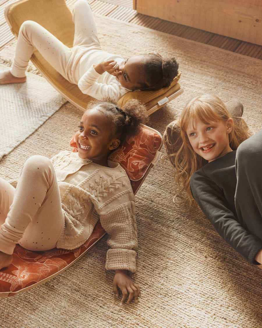
M185 91L151 115L153 128L163 133L186 101L207 92L224 101L240 99L250 127L261 128L261 61L108 18L97 17L97 24L108 51L177 56ZM65 104L2 159L1 176L17 177L30 155L69 149L80 117ZM159 161L136 196L138 305L121 305L113 295L104 238L58 277L0 299L0 326L261 328L262 271L231 249L199 210L186 208L182 199L173 202L172 175L169 161Z

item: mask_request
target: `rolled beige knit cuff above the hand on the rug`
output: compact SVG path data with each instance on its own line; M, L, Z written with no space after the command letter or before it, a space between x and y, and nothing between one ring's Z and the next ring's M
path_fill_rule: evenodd
M136 272L136 251L109 249L106 254L106 270L129 270Z

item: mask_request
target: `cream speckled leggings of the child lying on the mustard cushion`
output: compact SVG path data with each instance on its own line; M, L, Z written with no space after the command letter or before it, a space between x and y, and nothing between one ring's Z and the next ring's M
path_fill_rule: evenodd
M75 24L73 48L68 48L53 34L33 21L25 21L19 30L11 73L24 77L29 59L37 49L53 68L71 83L78 83L79 62L83 53L101 49L90 5L78 0L73 9ZM83 72L84 73L84 72Z

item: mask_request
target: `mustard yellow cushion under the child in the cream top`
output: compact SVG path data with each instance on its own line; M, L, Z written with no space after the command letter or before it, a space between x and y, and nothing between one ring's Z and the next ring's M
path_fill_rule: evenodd
M32 20L55 35L66 46L72 47L74 38L74 24L72 13L66 6L65 0L20 0L9 5L5 10L7 22L12 33L17 37L20 26L26 20ZM82 93L77 85L68 82L41 56L34 51L31 61L48 82L60 92L69 102L81 110L85 110L87 103L93 98ZM163 97L168 97L180 89L178 83L180 73L174 78L169 88L157 91L131 91L119 99L123 106L130 99L139 99L147 109L157 104Z

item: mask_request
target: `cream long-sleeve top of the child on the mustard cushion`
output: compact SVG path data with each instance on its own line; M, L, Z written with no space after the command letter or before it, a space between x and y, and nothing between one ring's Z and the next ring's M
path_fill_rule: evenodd
M107 60L115 60L119 65L123 58L119 55L103 50L89 50L84 53L79 64L78 87L83 92L96 99L102 99L105 95L119 100L129 89L122 87L115 76L104 72L99 74L94 67Z

